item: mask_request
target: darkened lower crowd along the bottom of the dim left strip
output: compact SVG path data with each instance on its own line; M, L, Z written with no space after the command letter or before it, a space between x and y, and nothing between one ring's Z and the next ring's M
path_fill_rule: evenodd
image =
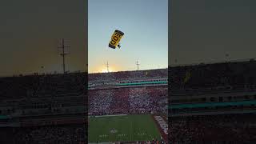
M36 126L14 128L14 144L84 144L85 128L76 126Z

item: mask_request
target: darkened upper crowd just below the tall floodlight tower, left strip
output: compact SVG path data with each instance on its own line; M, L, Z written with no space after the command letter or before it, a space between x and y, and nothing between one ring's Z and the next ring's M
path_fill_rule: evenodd
M48 108L42 113L51 113L51 106L56 105L57 101L64 101L65 98L69 99L68 102L85 102L86 81L86 73L0 78L0 105L8 107L8 110L0 110L0 114L13 114L28 106L35 109L36 106L31 106L32 103ZM10 104L15 106L10 107Z

